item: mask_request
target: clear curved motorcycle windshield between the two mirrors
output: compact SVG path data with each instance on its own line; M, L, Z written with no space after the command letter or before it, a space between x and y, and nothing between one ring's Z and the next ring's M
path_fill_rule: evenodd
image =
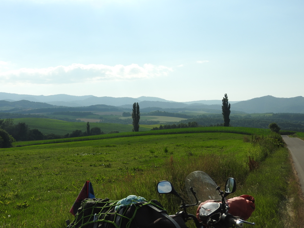
M222 196L219 195L219 191L216 190L217 184L205 172L195 171L190 173L185 179L185 186L192 204L195 204L196 200L190 191L190 187L196 192L199 204L209 199L222 200Z

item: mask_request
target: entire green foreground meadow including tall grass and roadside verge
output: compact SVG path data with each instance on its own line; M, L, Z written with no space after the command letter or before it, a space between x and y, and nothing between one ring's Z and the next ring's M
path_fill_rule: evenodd
M64 221L73 220L69 209L86 180L92 182L98 198L138 195L157 199L172 214L180 202L158 195L157 182L172 181L187 200L183 182L197 170L208 173L222 187L227 177L236 178L237 192L231 197L249 194L256 198L257 209L249 220L256 227L301 227L294 223L302 222L299 213L303 209L295 210L295 203L302 201L292 179L288 151L269 144L271 140L263 144L250 139L244 134L190 133L188 129L179 134L0 149L0 227L66 227ZM248 156L259 162L252 171ZM287 204L289 213L282 210ZM292 226L285 224L286 218Z

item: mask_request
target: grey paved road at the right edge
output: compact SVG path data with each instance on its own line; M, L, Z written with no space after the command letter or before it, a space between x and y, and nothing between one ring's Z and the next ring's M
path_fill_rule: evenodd
M292 155L304 194L304 141L299 138L289 138L287 135L282 135L282 137Z

